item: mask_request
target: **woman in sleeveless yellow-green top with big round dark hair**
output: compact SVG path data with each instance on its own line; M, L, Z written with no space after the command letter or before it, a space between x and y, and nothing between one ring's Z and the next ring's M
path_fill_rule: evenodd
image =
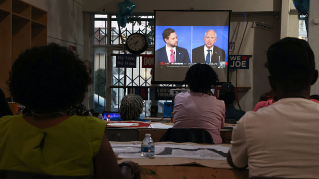
M83 101L91 81L84 63L58 44L22 53L7 83L12 97L31 113L0 118L0 170L9 177L139 177L134 162L117 165L104 134L106 122L66 115Z

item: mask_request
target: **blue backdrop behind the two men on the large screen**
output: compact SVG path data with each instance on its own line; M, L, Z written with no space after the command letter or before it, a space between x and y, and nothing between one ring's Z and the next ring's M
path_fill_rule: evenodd
M175 30L178 39L178 47L182 47L187 50L189 59L191 59L192 49L205 44L205 32L209 29L215 30L217 34L217 41L214 46L218 46L225 51L225 61L228 61L228 26L156 26L155 51L166 46L162 33L167 28Z

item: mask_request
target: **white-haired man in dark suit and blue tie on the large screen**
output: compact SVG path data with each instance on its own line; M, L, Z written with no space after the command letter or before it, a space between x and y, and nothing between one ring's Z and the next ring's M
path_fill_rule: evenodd
M205 45L192 50L192 63L214 63L220 65L220 62L224 62L225 51L214 46L216 40L215 30L210 29L206 31L204 37Z

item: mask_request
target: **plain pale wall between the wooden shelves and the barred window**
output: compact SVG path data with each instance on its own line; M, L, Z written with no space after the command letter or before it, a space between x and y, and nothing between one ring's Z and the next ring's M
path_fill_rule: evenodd
M83 57L82 0L25 0L48 12L48 43L75 46Z

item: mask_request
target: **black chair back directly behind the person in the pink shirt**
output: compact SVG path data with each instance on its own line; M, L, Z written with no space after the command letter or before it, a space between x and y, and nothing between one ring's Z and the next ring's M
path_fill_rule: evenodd
M160 142L214 144L211 134L203 128L169 128Z

